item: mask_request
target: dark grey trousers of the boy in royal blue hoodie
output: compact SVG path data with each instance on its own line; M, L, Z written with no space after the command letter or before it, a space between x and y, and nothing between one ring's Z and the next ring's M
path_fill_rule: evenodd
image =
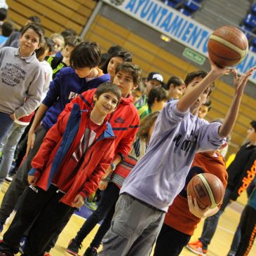
M0 221L2 223L6 222L6 219L11 215L18 199L27 187L27 173L29 173L29 170L32 168L31 161L39 150L39 147L43 142L43 137L45 137L46 133L47 130L41 126L36 133L34 148L29 151L27 158L18 169L18 172L4 195L0 208Z

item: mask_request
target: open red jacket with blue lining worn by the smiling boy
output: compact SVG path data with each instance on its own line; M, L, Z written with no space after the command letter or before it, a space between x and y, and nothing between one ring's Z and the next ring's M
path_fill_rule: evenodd
M63 114L58 119L46 134L43 144L32 160L32 170L29 172L29 175L39 177L36 186L47 190L57 173L60 177L74 172L77 168L72 186L65 191L65 196L60 200L69 206L72 206L77 194L84 197L90 196L97 189L114 157L114 133L106 119L102 129L96 135L97 140L88 147L83 161L79 161L81 165L67 164L85 132L90 111L88 106L81 108L86 108L86 111L81 111L78 105L74 105L76 112L72 109L72 112ZM65 179L60 177L60 180L57 184L62 190L62 187L65 187Z

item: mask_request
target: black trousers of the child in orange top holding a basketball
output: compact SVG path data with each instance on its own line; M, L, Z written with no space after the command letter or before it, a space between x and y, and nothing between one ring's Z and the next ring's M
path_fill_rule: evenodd
M178 256L184 246L189 243L190 238L191 236L163 224L159 236L156 239L154 256Z

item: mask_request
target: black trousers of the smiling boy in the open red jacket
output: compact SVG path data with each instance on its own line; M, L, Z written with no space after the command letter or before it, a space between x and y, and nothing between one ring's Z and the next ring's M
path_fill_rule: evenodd
M59 229L62 220L74 211L74 208L60 203L63 195L58 191L58 187L53 185L50 185L48 191L39 187L27 187L13 222L4 234L4 243L0 244L0 251L17 253L20 239L34 221L27 236L25 255L43 255L54 231Z

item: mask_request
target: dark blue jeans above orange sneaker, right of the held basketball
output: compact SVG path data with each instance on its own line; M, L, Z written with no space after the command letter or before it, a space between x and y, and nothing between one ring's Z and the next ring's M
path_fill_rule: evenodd
M201 241L201 243L203 243L204 249L208 248L208 245L210 244L210 241L215 234L220 216L222 215L222 213L224 213L225 208L229 204L229 197L231 195L231 192L231 190L226 189L220 210L215 215L206 218L203 224L203 231L201 237L198 239Z

